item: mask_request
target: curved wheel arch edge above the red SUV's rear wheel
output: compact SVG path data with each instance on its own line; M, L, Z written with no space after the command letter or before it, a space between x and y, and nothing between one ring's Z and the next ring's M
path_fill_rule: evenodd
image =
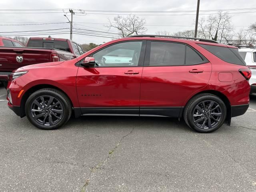
M192 97L189 98L189 100L186 102L186 105L184 106L184 108L186 108L188 102L194 97L194 96L197 96L198 94L202 94L202 93L208 93L208 94L213 94L217 97L219 97L225 104L226 106L226 109L227 109L227 116L226 116L226 120L225 122L230 125L231 123L231 115L232 115L232 110L231 110L231 104L230 104L230 101L229 99L227 98L226 95L224 95L222 92L219 92L219 91L216 91L216 90L204 90L204 91L201 91L201 92L198 92L197 94L193 95ZM182 113L180 114L180 117L183 116L183 112L184 110L182 111Z

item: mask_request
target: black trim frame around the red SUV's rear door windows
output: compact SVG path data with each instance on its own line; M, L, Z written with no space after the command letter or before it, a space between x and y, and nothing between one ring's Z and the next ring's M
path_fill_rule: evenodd
M184 55L184 65L149 65L150 62L150 50L151 50L151 42L168 42L168 43L178 43L178 44L184 44L185 45L185 55ZM192 50L194 50L201 58L202 62L195 63L195 64L187 64L186 65L186 46L189 46ZM145 60L144 65L145 67L174 67L174 66L193 66L193 65L200 65L209 63L209 60L206 59L198 50L196 50L194 47L190 46L189 44L183 43L183 42L176 42L176 41L165 41L165 40L147 40L147 46L146 46L146 54L145 54Z

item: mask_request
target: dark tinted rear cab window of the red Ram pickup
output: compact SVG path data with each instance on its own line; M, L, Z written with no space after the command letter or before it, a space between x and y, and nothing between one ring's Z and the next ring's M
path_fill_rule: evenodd
M70 52L67 41L56 40L29 40L28 47L54 48L62 51Z

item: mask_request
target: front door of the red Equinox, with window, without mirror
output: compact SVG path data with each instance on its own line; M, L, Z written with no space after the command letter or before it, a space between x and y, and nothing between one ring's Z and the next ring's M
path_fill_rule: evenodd
M76 86L83 114L139 114L145 46L143 41L112 44L90 55L94 67L79 67Z

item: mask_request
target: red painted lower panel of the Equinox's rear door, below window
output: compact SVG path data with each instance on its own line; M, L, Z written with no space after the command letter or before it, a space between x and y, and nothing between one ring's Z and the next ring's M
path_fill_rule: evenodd
M193 69L204 72L190 73L189 71ZM184 106L184 101L189 95L194 95L208 84L211 72L211 63L192 66L145 66L142 74L140 106Z

